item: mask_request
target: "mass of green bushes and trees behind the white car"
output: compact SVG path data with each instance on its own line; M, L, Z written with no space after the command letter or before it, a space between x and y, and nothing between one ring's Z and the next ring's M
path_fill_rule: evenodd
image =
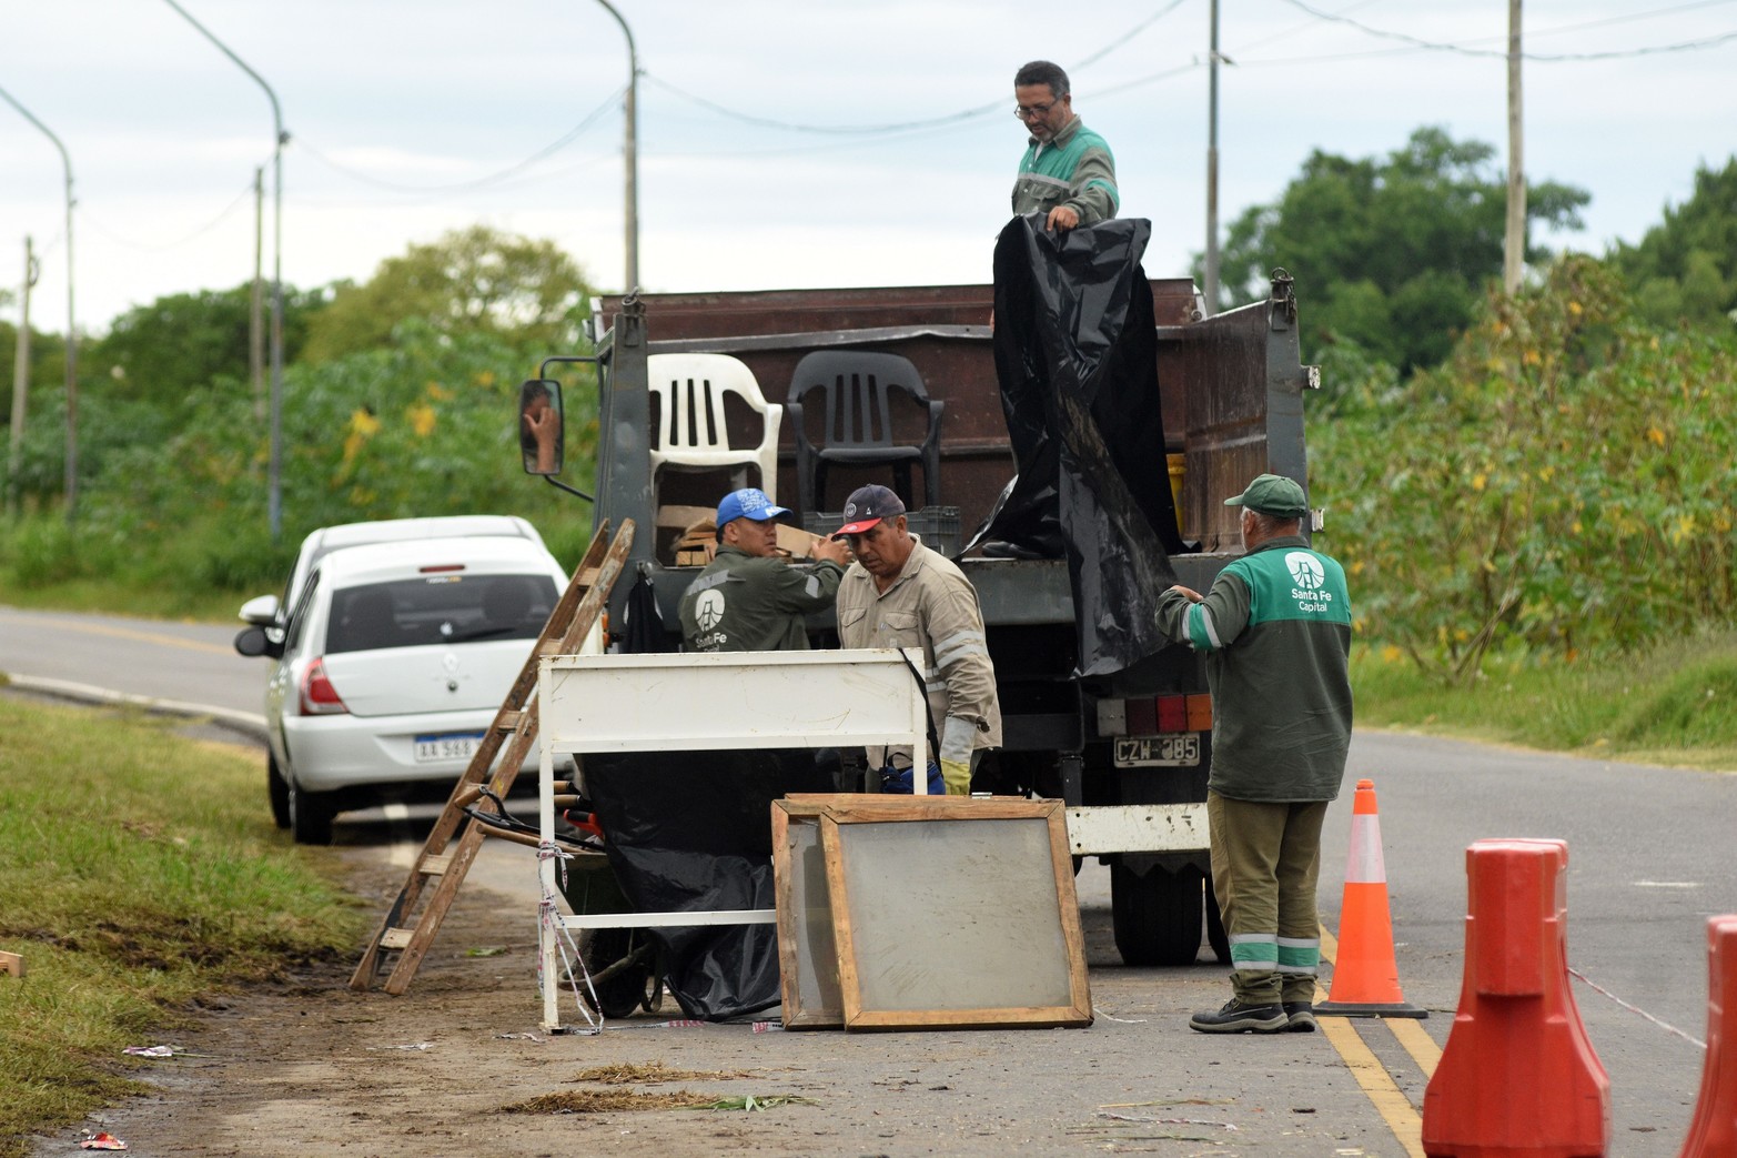
M453 243L474 259L486 236L495 235L472 230ZM497 242L521 256L528 245ZM577 309L582 282L571 261L547 243L530 250L554 263L551 278L573 282L566 292ZM577 313L561 327L545 320L507 334L486 309L462 325L415 313L424 306L415 296L377 297L382 315L398 316L382 341L330 358L302 356L283 372L283 534L273 541L267 424L243 379L210 369L236 365L231 297L215 296L221 309L210 325L193 308L201 296L163 299L127 315L82 355L90 374L80 376L73 527L59 506L64 389L33 389L10 480L19 515L0 534L0 567L14 584L120 576L135 588L259 593L281 584L301 539L316 527L417 515L526 515L559 558L577 560L591 508L519 469L516 428L518 383L542 356L578 348ZM288 297L299 304L299 332L320 320L318 296ZM155 344L144 341L149 334ZM120 358L153 367L149 389L141 389L139 374L106 372L123 365ZM243 356L243 374L245 365ZM570 381L566 431L568 473L589 480L596 456L589 379Z

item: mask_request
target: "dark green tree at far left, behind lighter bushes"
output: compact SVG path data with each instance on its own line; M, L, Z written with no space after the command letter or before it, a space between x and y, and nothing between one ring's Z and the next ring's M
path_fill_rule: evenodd
M219 376L248 381L248 343L254 287L170 294L115 318L106 337L82 355L106 377L102 391L115 398L175 398L208 388ZM309 320L325 308L321 290L283 287L283 362L295 362L307 341ZM261 303L262 356L271 358L271 287ZM80 377L83 377L80 374Z

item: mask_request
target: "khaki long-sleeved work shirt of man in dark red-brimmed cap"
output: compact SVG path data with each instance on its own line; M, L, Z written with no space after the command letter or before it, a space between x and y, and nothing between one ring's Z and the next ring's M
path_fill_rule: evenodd
M983 638L976 588L950 560L917 542L884 593L862 563L839 582L839 643L844 647L921 647L922 680L938 734L947 720L971 730L971 748L1001 746L995 666ZM954 725L955 729L961 725ZM964 753L969 760L969 753ZM936 753L938 758L938 753ZM868 765L910 767L905 746L870 748Z

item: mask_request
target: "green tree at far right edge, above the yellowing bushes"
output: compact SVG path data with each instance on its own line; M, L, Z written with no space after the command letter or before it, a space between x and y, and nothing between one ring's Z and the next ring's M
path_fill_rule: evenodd
M1661 325L1730 332L1737 322L1737 156L1714 172L1695 170L1695 191L1638 245L1610 254L1635 290L1641 315Z

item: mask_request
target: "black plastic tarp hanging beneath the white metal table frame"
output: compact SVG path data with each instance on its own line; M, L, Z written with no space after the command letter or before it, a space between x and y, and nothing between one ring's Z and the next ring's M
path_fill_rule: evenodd
M585 793L632 909L769 909L771 802L837 791L834 769L837 753L804 749L591 755ZM688 1017L728 1021L778 1003L776 927L648 934Z

